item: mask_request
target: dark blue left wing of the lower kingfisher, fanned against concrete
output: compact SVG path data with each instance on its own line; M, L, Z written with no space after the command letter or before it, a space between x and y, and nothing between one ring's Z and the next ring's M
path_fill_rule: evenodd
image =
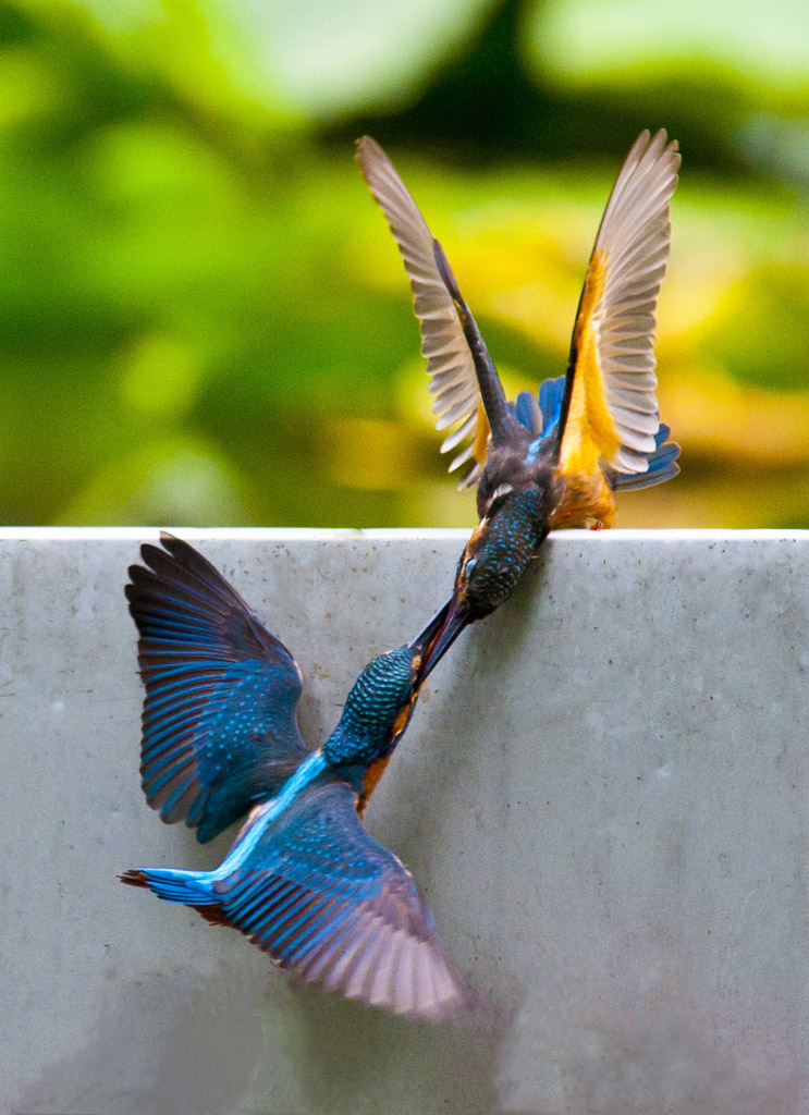
M144 545L126 586L146 687L140 774L163 821L201 843L273 794L309 755L301 675L214 566L169 534Z

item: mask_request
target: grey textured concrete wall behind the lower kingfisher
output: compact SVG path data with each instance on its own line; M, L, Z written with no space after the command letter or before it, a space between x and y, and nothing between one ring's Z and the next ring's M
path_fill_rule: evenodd
M296 655L316 745L462 535L178 532ZM809 1112L809 534L553 539L436 671L368 812L488 1004L300 993L121 886L211 866L138 785L121 586L156 532L0 534L0 1109Z

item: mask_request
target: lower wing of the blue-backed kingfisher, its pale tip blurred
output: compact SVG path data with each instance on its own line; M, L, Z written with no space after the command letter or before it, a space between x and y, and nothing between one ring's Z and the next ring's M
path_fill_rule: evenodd
M348 783L305 789L213 893L203 915L349 999L427 1018L466 1000L412 875L369 836Z

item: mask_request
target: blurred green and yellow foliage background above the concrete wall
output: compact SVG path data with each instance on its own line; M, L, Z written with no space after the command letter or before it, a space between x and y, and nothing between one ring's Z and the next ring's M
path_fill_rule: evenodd
M368 132L510 386L564 370L643 127L683 475L623 525L809 526L809 8L0 2L0 517L462 525Z

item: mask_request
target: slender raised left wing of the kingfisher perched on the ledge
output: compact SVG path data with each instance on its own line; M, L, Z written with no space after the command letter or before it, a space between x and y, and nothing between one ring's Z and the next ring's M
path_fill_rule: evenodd
M475 360L464 332L464 311L439 271L438 259L446 256L393 164L370 136L358 139L357 162L388 219L410 280L413 309L421 328L421 352L427 360L430 391L436 396L432 404L432 413L438 415L436 428L444 430L460 424L445 438L441 453L462 446L449 466L450 472L470 459L475 462L459 485L467 487L476 483L486 462L489 427Z

